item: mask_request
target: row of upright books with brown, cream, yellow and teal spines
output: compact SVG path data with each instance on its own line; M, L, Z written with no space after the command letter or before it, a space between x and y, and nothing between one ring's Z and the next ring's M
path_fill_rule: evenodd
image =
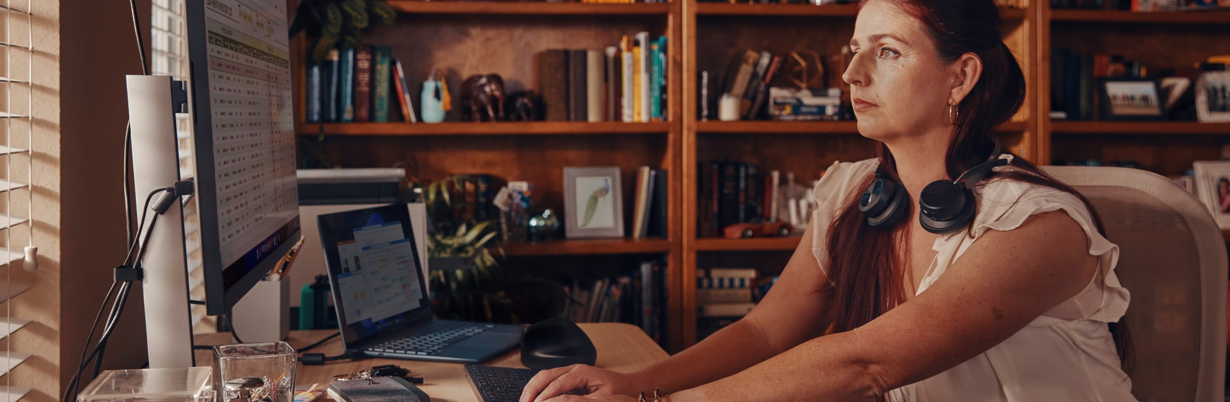
M648 32L640 32L604 50L544 50L535 65L547 120L665 119L667 37L649 39Z

